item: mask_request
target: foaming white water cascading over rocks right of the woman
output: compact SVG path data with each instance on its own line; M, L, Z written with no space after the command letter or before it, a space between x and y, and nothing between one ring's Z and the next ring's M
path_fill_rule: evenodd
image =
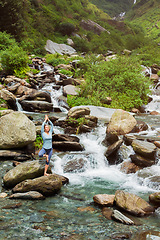
M100 124L99 127L93 132L80 135L80 143L84 145L84 151L69 152L65 154L55 153L52 156L52 161L54 161L53 171L68 177L70 184L73 186L85 186L87 184L92 185L93 181L98 181L96 183L97 187L102 187L103 185L104 188L104 182L106 182L106 186L108 188L128 189L129 192L135 194L142 192L155 192L156 190L160 190L158 183L155 187L155 183L152 182L151 179L151 176L156 176L155 169L160 171L159 163L150 168L145 168L145 170L150 171L151 173L151 176L148 176L147 178L142 178L142 176L138 176L138 174L134 173L123 173L120 170L121 164L108 164L108 161L104 156L106 147L101 144L105 138L105 128L106 127L103 124ZM130 160L129 156L133 153L134 151L132 147L127 147L126 158L124 161ZM83 159L85 161L83 171L80 170L72 173L65 173L63 171L65 164L74 159ZM103 181L102 185L101 181Z

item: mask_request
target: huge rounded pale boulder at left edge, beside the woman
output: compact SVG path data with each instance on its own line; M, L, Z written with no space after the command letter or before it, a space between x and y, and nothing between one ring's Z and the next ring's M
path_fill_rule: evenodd
M36 139L34 123L21 112L13 112L0 118L0 149L21 148Z

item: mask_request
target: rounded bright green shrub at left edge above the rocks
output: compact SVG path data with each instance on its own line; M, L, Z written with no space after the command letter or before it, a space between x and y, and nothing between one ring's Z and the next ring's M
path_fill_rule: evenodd
M3 69L8 74L14 74L15 71L22 71L27 67L28 56L22 48L14 46L4 51L1 55L1 63Z

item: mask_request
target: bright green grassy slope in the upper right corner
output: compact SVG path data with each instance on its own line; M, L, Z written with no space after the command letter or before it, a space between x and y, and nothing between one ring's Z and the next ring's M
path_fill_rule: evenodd
M160 0L139 0L127 15L127 20L140 24L145 33L160 43Z

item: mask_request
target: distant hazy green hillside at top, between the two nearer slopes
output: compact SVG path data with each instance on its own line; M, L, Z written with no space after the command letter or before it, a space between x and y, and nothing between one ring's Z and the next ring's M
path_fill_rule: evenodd
M134 3L133 0L91 0L91 2L111 17L129 11Z

